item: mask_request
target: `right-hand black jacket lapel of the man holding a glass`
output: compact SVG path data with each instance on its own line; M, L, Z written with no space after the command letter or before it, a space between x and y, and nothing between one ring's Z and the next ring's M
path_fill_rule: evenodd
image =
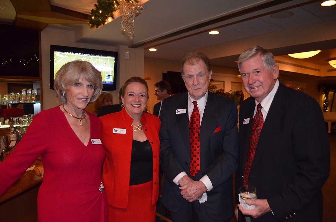
M256 153L254 156L253 164L251 167L251 171L254 168L254 166L258 163L260 160L264 150L267 148L269 144L270 138L272 138L272 135L275 133L274 127L279 125L280 117L283 114L282 106L284 104L284 93L285 93L285 86L282 84L279 85L279 88L273 98L273 101L271 103L271 106L269 107L269 111L267 113L266 120L264 122L264 125L262 127L258 146L256 149Z

